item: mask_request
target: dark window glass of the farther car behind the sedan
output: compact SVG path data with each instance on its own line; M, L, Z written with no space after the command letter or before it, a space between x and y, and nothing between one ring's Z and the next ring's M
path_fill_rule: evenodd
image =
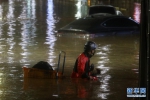
M115 11L115 8L113 8L113 7L104 7L104 6L90 7L89 15L92 15L95 13L109 13L109 14L115 15L116 11Z

